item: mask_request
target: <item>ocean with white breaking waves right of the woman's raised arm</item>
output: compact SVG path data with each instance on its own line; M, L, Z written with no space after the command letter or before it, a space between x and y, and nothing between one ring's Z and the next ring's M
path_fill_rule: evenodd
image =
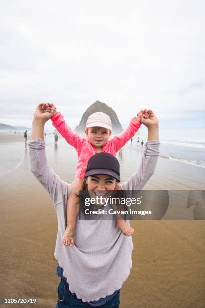
M140 141L147 139L145 134L139 137ZM136 140L137 136L134 137L134 142ZM161 157L205 168L205 128L161 129L160 143Z

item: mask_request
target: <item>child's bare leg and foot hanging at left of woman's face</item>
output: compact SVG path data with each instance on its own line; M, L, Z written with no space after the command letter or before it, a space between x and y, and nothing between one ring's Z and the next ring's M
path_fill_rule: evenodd
M72 192L67 200L67 226L62 238L62 243L70 247L74 245L75 225L79 213L79 197L76 192L82 190L82 183L83 181L80 179L76 179L72 182Z

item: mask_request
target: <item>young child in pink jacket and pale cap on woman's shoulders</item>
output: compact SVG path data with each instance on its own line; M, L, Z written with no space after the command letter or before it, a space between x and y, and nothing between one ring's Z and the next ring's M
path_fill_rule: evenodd
M48 106L49 107L44 110L45 112L51 110L51 108L55 108L53 104L48 104ZM61 113L56 112L55 109L54 116L51 118L53 126L70 145L75 147L78 155L77 173L72 183L73 190L67 201L67 227L62 238L63 244L70 247L74 245L75 224L79 211L78 206L76 206L78 203L78 196L75 192L82 190L88 160L91 156L99 152L108 152L115 156L119 149L122 148L140 128L140 116L148 118L149 114L146 113L145 110L141 110L136 118L131 119L129 126L120 135L108 140L112 131L110 117L103 112L93 113L88 117L86 123L85 134L87 138L83 138L71 130ZM116 189L119 189L119 187ZM117 220L116 223L124 235L130 236L134 233L134 229L127 225L124 220Z

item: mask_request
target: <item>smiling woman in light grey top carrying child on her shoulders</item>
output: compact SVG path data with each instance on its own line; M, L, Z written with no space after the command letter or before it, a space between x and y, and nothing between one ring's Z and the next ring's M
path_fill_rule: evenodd
M47 164L43 140L44 125L53 114L44 113L42 106L43 104L38 105L34 113L32 136L29 142L30 161L33 174L53 200L58 218L54 255L59 263L57 274L61 276L61 282L58 287L57 307L117 308L120 288L132 267L132 238L124 236L116 228L115 219L77 220L75 245L72 248L62 245L61 238L66 226L65 207L71 192L71 184L60 180ZM127 182L120 184L122 190L141 190L156 167L159 155L158 120L152 113L149 119L141 117L141 121L148 128L148 142L145 144L138 172ZM104 166L104 169L109 171L110 164L108 168ZM93 174L88 175L86 180L88 190L115 189L115 177L113 177L112 187L108 189L106 174L95 173L97 178L95 184L92 176Z

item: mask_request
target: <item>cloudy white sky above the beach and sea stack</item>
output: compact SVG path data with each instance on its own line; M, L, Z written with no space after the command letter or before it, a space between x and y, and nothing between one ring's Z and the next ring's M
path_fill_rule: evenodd
M74 128L100 100L123 126L141 108L204 126L204 12L198 0L2 0L0 123L31 127L54 102Z

